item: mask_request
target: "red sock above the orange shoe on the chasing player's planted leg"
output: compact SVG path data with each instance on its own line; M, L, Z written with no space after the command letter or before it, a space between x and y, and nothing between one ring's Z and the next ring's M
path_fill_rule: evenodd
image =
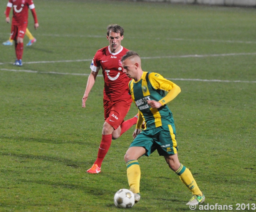
M101 167L101 163L108 153L108 149L111 145L112 141L112 134L110 135L102 135L100 148L97 156L97 160L94 162L94 164L97 164L99 167Z

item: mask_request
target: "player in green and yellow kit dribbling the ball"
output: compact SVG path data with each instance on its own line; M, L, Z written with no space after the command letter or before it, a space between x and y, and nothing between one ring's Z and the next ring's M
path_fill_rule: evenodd
M134 140L124 156L128 183L130 190L135 195L135 202L140 200L138 158L143 155L149 156L157 150L193 193L193 197L187 205L203 203L204 194L198 188L190 170L183 166L178 159L176 130L172 112L166 105L180 93L180 87L157 73L142 71L140 56L134 51L127 51L122 57L122 66L123 72L132 78L132 81L129 82L129 89L132 100L139 109L139 118L133 133ZM166 96L164 91L168 92ZM146 129L141 132L143 121L146 123Z

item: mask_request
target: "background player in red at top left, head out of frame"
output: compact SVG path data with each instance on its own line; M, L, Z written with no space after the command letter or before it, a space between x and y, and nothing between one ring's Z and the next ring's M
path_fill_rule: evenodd
M14 65L22 66L22 54L23 54L23 38L26 33L26 28L28 26L28 8L31 10L34 17L34 27L37 29L39 27L35 5L32 0L9 0L6 7L6 22L10 23L9 14L11 8L13 7L13 16L12 16L12 33L11 39L15 41L15 52L16 52L16 61Z

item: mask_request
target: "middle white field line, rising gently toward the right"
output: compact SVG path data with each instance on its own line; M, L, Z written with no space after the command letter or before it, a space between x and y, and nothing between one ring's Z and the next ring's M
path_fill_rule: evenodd
M177 55L177 56L157 56L157 57L141 57L141 59L162 59L162 58L203 58L203 57L224 57L224 56L239 56L239 55L256 55L256 52L252 53L229 53L229 54L189 54L189 55ZM34 64L34 63L63 63L63 62L84 62L84 61L92 61L92 59L76 59L76 60L56 60L56 61L32 61L32 62L23 62L24 64ZM12 64L12 62L8 63L0 63L3 64Z

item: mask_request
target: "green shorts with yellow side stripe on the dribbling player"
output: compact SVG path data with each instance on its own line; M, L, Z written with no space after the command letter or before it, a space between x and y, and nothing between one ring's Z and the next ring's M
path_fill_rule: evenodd
M178 151L174 124L168 124L142 131L133 141L132 146L142 146L149 156L156 149L160 156L176 154Z

